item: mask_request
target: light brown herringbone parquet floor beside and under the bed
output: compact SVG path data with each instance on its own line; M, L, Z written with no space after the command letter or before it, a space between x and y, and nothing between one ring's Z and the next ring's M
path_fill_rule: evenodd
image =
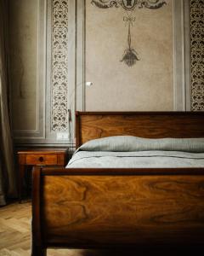
M48 249L48 256L83 256L82 253L83 250ZM31 255L30 202L0 207L0 255Z

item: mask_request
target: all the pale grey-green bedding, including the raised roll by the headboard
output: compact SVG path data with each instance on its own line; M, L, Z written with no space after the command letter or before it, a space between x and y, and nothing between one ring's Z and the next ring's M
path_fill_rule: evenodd
M204 167L204 138L105 137L84 143L66 168Z

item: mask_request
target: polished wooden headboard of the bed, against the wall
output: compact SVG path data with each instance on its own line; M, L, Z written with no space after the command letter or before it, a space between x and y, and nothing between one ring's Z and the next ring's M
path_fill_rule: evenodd
M204 112L76 112L76 147L116 135L204 137Z

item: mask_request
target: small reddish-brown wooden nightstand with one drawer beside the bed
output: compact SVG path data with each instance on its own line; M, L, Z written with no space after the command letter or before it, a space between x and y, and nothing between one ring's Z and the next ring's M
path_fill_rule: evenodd
M67 163L67 148L31 148L19 150L19 201L23 192L26 166L61 166Z

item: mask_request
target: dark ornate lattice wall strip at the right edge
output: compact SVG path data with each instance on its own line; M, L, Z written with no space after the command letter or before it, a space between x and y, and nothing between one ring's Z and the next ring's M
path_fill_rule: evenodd
M190 1L191 109L204 110L204 1Z

